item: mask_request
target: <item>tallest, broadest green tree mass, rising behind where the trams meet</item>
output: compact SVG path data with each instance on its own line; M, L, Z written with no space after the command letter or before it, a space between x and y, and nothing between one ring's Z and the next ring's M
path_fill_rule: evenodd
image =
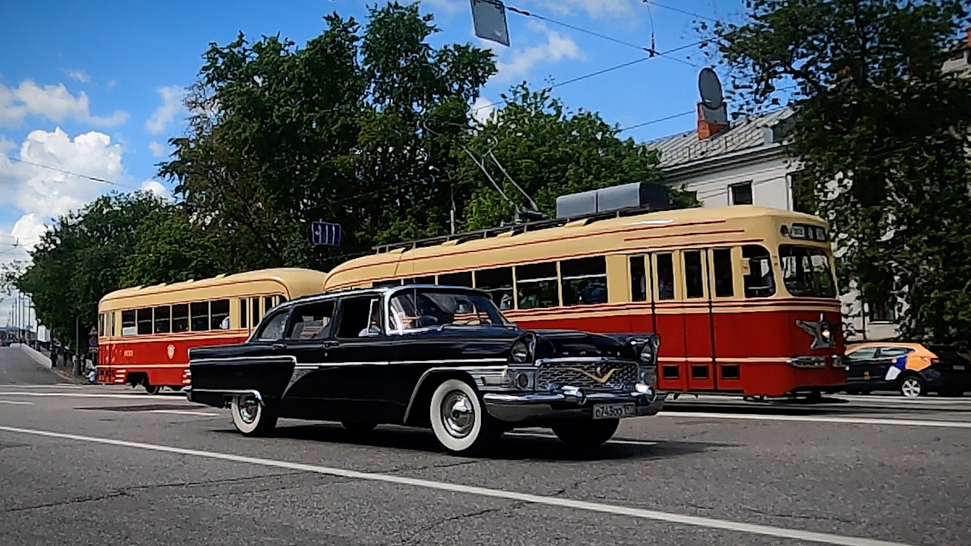
M461 130L495 72L491 52L432 48L437 29L417 5L371 8L363 28L324 20L304 48L240 35L207 51L189 134L162 165L241 268L333 261L310 244L318 220L344 227L341 255L448 224L442 135Z

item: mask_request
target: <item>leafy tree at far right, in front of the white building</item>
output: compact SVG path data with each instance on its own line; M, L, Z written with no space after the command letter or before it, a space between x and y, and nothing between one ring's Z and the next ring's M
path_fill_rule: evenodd
M971 80L942 71L966 0L748 6L714 27L715 52L753 110L795 85L789 149L837 234L843 289L902 298L904 335L971 339Z

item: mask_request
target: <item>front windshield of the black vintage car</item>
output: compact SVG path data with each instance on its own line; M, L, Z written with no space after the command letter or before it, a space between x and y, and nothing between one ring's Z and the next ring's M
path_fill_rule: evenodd
M391 331L444 325L509 325L485 294L464 290L401 290L389 305Z

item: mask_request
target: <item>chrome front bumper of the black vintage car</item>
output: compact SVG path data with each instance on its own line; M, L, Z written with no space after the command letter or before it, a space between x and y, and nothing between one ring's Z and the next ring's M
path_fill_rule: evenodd
M549 423L551 421L593 417L597 404L634 403L634 414L624 417L656 415L664 405L667 392L486 392L485 411L499 421L515 424Z

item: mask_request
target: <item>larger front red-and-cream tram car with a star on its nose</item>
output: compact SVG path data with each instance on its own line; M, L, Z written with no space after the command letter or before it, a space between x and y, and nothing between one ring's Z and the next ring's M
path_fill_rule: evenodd
M514 224L345 262L325 291L437 283L492 293L522 327L660 335L657 387L747 396L846 384L827 226L757 206Z

